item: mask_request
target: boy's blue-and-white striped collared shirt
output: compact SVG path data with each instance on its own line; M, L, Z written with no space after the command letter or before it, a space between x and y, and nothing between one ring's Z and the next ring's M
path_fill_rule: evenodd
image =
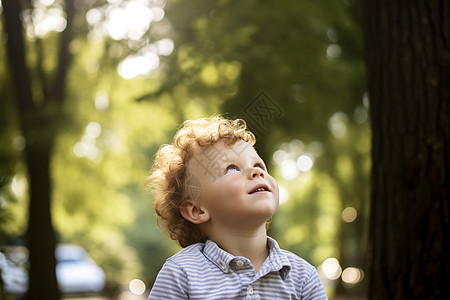
M211 240L190 245L167 259L148 299L327 299L313 266L270 237L267 244L257 274L250 260Z

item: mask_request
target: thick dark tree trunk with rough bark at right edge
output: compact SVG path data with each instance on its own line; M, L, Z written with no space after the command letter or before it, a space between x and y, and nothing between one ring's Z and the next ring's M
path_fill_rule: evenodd
M366 0L370 299L450 299L450 2Z

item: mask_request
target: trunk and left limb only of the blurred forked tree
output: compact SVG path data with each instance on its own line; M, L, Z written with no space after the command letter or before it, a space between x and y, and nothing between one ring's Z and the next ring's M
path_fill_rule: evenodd
M54 128L47 118L48 105L36 107L25 64L23 27L18 0L3 1L7 52L16 93L20 127L25 136L25 162L29 181L28 247L30 250L27 299L60 298L56 279L55 237L50 213L50 153ZM50 107L51 108L51 107Z

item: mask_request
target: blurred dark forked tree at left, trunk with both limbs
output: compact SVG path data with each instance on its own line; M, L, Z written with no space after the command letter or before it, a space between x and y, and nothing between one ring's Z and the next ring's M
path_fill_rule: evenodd
M6 0L4 6L4 30L7 34L7 51L13 74L14 92L21 131L27 142L25 161L30 184L28 218L28 247L30 249L29 299L59 299L54 256L55 233L51 223L50 156L56 136L54 122L62 117L62 103L70 63L68 51L74 2L66 1L67 26L60 37L57 68L47 81L42 61L36 67L41 75L42 99L36 99L36 91L26 64L25 42L21 21L21 1ZM44 77L45 76L45 77ZM42 100L42 102L40 101ZM41 103L40 103L41 102Z

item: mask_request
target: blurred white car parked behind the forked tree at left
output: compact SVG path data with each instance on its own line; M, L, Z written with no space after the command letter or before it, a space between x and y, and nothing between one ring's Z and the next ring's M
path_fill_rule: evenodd
M8 247L0 252L0 268L4 289L24 294L28 289L28 250ZM55 250L56 277L62 293L97 293L105 286L105 273L83 247L58 245Z

